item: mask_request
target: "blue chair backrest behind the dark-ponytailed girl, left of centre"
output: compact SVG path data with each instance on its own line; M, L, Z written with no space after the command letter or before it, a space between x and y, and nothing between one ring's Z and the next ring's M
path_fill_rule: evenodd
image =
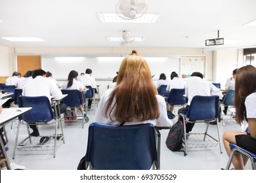
M67 107L79 107L82 105L81 93L78 90L61 90L62 94L68 94L62 103L66 104Z

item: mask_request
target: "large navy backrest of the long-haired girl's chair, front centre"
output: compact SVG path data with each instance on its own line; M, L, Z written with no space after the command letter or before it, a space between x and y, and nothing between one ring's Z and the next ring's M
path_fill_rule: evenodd
M156 132L152 124L89 126L86 161L93 169L150 169L158 166ZM158 168L158 167L157 167Z

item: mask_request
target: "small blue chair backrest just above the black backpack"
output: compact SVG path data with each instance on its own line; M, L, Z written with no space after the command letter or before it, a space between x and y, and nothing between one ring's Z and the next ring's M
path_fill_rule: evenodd
M171 89L169 93L169 97L167 99L167 103L169 105L184 105L187 102L187 98L184 97L185 89Z

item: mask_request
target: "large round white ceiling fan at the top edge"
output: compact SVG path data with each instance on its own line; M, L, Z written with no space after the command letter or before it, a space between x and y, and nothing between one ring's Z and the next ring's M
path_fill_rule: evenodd
M116 5L116 14L127 20L139 18L148 10L146 0L120 0Z

